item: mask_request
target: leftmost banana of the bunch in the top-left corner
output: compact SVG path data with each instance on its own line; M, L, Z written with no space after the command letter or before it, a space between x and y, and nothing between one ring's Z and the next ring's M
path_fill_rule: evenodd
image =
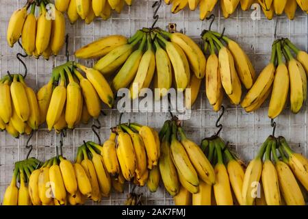
M16 10L8 23L8 30L6 34L6 39L10 47L13 47L15 42L21 37L21 33L23 31L23 24L27 18L27 9L29 5L25 5L25 7Z

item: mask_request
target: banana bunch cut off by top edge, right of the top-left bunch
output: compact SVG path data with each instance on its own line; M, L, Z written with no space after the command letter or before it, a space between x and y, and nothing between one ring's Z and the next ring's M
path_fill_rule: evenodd
M60 12L66 12L71 24L79 17L86 24L92 23L96 17L106 21L113 10L120 14L125 5L131 4L132 0L55 0L55 8Z

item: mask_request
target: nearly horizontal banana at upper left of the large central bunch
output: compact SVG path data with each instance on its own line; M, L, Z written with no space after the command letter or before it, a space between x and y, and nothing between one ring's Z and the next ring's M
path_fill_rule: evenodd
M99 38L84 47L75 51L75 56L80 59L93 59L102 57L110 53L110 51L127 44L127 38L120 35L106 36Z

